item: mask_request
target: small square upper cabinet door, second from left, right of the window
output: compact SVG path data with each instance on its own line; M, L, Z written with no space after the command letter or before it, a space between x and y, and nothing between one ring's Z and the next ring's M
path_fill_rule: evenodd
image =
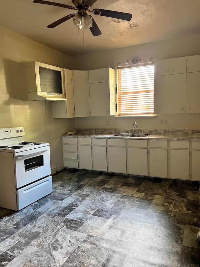
M170 59L169 74L186 73L187 57Z

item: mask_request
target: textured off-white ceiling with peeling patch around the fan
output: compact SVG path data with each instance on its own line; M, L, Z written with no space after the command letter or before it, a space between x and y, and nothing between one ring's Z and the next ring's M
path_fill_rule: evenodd
M48 1L73 5L71 0ZM93 37L89 29L82 28L78 38L72 19L55 28L46 27L73 10L32 0L0 0L0 24L69 55L200 33L200 0L98 0L94 8L132 13L133 17L123 21L93 15L102 35Z

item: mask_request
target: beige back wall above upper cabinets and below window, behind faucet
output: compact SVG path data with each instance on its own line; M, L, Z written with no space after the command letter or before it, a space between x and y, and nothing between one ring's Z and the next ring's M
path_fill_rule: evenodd
M132 47L100 51L74 57L74 69L116 68L118 62L131 60L134 57L142 60L150 57L169 59L200 54L200 34L179 37L170 40L140 44ZM158 124L159 119L167 119L167 125ZM111 121L111 126L106 126ZM155 119L142 119L139 117L115 118L86 117L76 118L76 128L104 128L104 129L130 129L133 121L137 121L138 128L143 129L200 129L200 114L163 114Z

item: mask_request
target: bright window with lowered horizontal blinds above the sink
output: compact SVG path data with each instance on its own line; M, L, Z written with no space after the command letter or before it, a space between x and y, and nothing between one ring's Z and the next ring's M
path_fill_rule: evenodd
M154 114L154 63L119 67L118 116Z

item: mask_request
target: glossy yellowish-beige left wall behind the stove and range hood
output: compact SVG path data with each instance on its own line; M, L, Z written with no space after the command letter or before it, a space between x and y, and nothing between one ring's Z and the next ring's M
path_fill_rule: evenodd
M53 119L51 102L24 101L21 62L39 61L63 68L72 58L18 33L0 28L0 128L23 126L26 141L49 142L51 168L63 168L61 135L75 128L74 119Z

